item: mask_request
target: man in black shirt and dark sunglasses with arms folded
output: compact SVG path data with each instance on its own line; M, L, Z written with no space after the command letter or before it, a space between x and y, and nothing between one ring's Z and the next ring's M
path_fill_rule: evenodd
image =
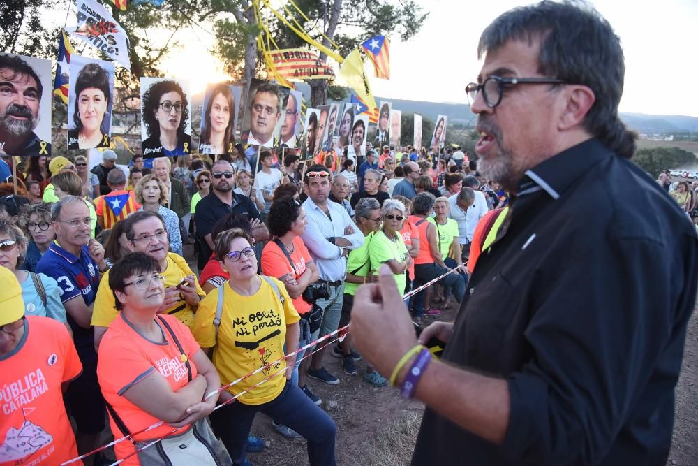
M211 192L196 204L194 223L199 241L199 257L197 267L201 271L211 259L214 249L214 239L211 238L216 221L230 212L241 214L252 222L252 235L255 242L269 238L267 227L260 220L260 212L250 198L232 192L232 178L235 170L229 161L218 160L211 168Z

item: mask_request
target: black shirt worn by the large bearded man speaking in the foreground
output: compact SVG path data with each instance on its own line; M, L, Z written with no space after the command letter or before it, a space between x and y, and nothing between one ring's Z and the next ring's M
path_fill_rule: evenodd
M443 355L508 381L504 442L427 409L413 464L666 463L698 282L695 228L595 139L526 172L518 192Z

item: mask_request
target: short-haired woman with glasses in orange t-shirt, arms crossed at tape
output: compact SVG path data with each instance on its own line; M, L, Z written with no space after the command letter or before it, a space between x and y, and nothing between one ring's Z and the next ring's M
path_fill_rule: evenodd
M230 462L222 449L216 449L216 438L205 420L218 400L217 394L208 394L221 386L221 379L189 329L175 316L158 314L165 300L164 278L158 269L155 259L134 252L109 271L119 316L102 338L97 377L110 408L112 434L119 438L133 433L133 443L117 443L114 454L124 460L151 439L161 438L158 446L122 464ZM135 433L158 421L163 424ZM173 427L181 430L172 433Z

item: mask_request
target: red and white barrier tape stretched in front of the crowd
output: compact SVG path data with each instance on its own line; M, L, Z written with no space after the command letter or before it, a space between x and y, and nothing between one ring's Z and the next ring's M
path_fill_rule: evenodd
M403 296L403 300L406 300L406 299L408 299L408 298L414 296L415 294L419 293L419 291L422 291L423 289L426 289L428 286L431 286L432 284L435 284L435 283L438 282L440 279L443 279L443 278L447 277L447 275L450 275L450 274L452 274L452 273L454 273L454 272L457 272L458 270L459 270L458 268L454 268L454 269L452 269L452 270L449 270L449 271L446 272L445 274L440 275L440 277L436 277L435 279L431 280L430 282L426 282L426 283L423 284L422 286L419 286L418 288L413 289L413 290L410 291L409 293L405 293L405 296ZM346 332L344 332L344 330L346 330ZM221 386L220 388L218 388L218 389L212 391L211 393L209 393L208 395L206 395L204 399L207 400L208 398L210 398L211 396L215 395L216 393L221 393L221 391L226 390L226 389L230 388L231 386L233 386L233 385L235 385L235 384L239 384L241 381L243 381L243 380L245 380L245 379L248 379L249 377L252 377L252 376L255 375L255 374L258 374L258 373L262 372L262 370L265 370L265 369L271 367L272 365L275 365L276 363L280 363L281 361L284 361L285 359L290 358L291 356L295 356L295 355L299 354L301 351L305 351L306 349L312 348L312 347L314 347L316 344L318 344L318 343L320 343L320 342L324 342L325 340L327 340L327 339L333 337L334 335L337 335L337 334L340 333L340 332L343 332L343 335L344 335L344 334L346 334L346 333L349 333L349 331L350 331L350 330L349 330L349 326L348 326L348 325L343 326L343 327L341 327L341 328L338 328L337 330L334 330L334 332L328 333L327 335L325 335L325 336L323 336L323 337L320 337L320 338L318 338L317 340L315 340L315 341L313 341L313 342L310 342L310 343L308 343L308 344L305 344L303 347L300 347L300 348L297 349L296 351L293 351L292 353L289 353L289 354L287 354L287 355L285 355L285 356L283 356L283 357L277 359L276 361L272 361L271 363L269 363L269 364L267 364L267 365L264 365L264 366L262 366L262 367L259 367L257 370L254 370L253 372L250 372L249 374L246 374L246 375L244 375L243 377L240 377L239 379L230 382L230 384L228 384L228 385ZM338 341L338 340L339 340L339 341L343 340L343 335L342 335L341 337L337 338L336 340L333 340L332 342L329 342L328 344L332 344L333 342ZM312 353L306 354L305 356L303 356L303 358L301 358L301 361L304 360L305 358L309 357L309 356L312 356L313 354L315 354L315 353L318 352L318 351L320 351L320 348L315 349L315 351L313 351ZM227 405L229 402L232 402L232 401L234 401L235 399L237 399L237 397L244 395L244 394L247 393L248 391L251 391L253 388L257 388L257 387L260 386L261 384L265 383L265 381L267 381L267 380L269 380L269 379L272 379L272 377L275 377L276 375L279 375L279 374L281 374L282 372L285 372L285 369L284 369L284 370L281 370L281 371L279 371L279 372L275 372L274 374L270 375L269 377L267 377L267 378L265 378L265 379L262 379L262 381L260 381L258 384L255 384L255 385L251 386L251 387L248 388L246 391L243 391L243 392L239 393L238 395L235 395L235 396L234 396L233 398L231 398L230 400L228 400L228 401L226 401L226 402L224 402L224 403L221 403L221 405L218 405L218 406L216 406L216 408L214 408L214 411L215 411L216 409L218 409L218 407ZM98 452L100 452L100 451L103 451L103 450L109 448L110 446L114 446L114 445L116 445L116 444L118 444L118 443L120 443L120 442L124 442L124 440L130 439L131 436L144 434L145 432L148 432L149 430L153 430L153 429L155 429L155 428L158 428L158 427L160 427L160 426L163 425L163 424L165 424L165 423L164 423L163 421L160 421L160 422L151 424L151 425L149 425L147 428L144 428L144 429L142 429L142 430L139 430L138 432L133 432L131 435L126 435L126 436L124 436L124 437L120 437L119 439L114 439L112 442L109 442L109 443L106 444L106 445L100 446L98 449L94 449L93 451L89 451L88 453L84 453L84 455L80 455L80 456L78 456L77 458L73 458L72 460L68 460L68 461L66 461L65 463L61 463L61 466L66 466L66 465L70 465L70 464L72 464L72 463L75 463L75 462L78 461L78 460L82 460L83 458L87 458L87 457L90 456L90 455L94 455L95 453L98 453ZM179 429L180 429L180 428L176 428L176 429L172 430L172 432L168 433L168 435L165 435L165 437L169 437L170 435L172 435L172 433L177 432ZM142 451L143 449L147 448L147 447L150 446L151 444L155 444L155 443L159 442L161 439L163 439L163 438L165 438L165 437L161 437L161 438L159 438L159 439L154 440L153 442L151 442L151 443L149 443L149 444L143 446L143 447L142 447L141 449L139 449L138 451ZM138 451L136 451L135 453L138 453ZM127 456L126 458L122 458L121 460L117 461L116 463L112 463L111 466L118 465L118 464L121 463L122 461L124 461L124 460L126 460L127 458L130 458L131 456L133 456L133 454L135 454L135 453L131 453L131 455Z

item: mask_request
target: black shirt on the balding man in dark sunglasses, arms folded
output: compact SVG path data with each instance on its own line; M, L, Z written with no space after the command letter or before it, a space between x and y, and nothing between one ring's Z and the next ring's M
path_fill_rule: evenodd
M252 219L260 219L260 212L255 207L255 203L247 196L239 193L232 193L232 205L221 201L221 198L218 198L213 190L209 192L208 196L196 203L194 223L196 224L196 236L199 240L199 257L196 263L199 270L204 268L209 259L211 259L211 254L213 254L209 243L206 242L204 237L211 233L216 221L231 212L244 215L250 221Z

